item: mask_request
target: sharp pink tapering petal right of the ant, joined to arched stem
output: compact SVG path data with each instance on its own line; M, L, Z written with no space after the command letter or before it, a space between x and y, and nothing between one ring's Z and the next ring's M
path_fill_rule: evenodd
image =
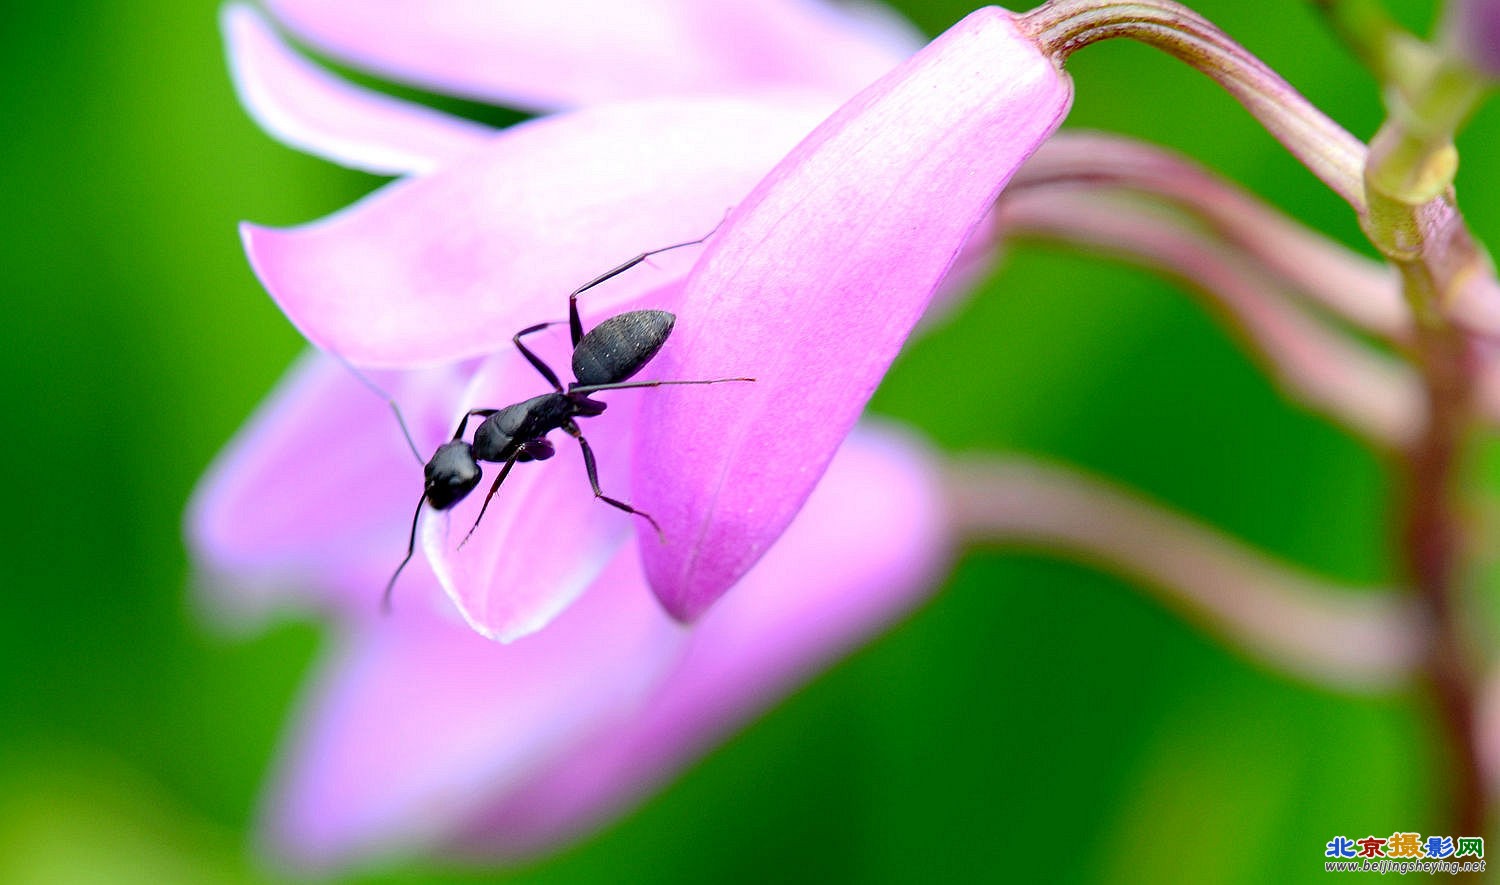
M636 494L669 542L642 549L669 612L700 615L770 549L1071 94L1008 12L981 9L819 126L714 237L663 376L758 381L642 408Z

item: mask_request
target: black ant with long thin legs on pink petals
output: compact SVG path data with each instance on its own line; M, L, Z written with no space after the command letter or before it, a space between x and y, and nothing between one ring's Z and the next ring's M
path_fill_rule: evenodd
M717 226L714 228L717 230ZM468 542L474 530L478 528L480 519L484 519L484 510L489 508L489 501L500 490L500 484L506 482L510 474L510 468L526 460L546 460L552 458L555 450L552 442L548 441L548 434L552 430L562 430L568 436L578 440L579 448L584 453L584 468L588 471L588 483L594 488L594 498L624 510L626 513L634 513L656 530L657 537L663 538L662 526L657 525L656 519L644 510L636 510L630 504L620 501L618 498L610 498L598 488L598 468L594 464L594 450L590 448L588 440L579 430L578 423L573 418L591 418L603 414L606 404L592 399L591 393L600 393L604 390L622 390L627 387L662 387L666 384L718 384L723 381L754 381L754 378L714 378L711 381L630 381L630 378L645 368L646 363L656 357L662 345L666 344L668 336L672 333L672 326L676 322L676 316L666 310L628 310L610 316L591 328L588 334L584 333L584 324L578 316L578 297L588 290L609 280L632 267L640 264L652 255L660 255L672 249L681 249L682 246L696 246L711 237L714 231L704 234L696 240L688 240L686 243L675 243L672 246L663 246L662 249L652 249L650 252L642 252L630 261L614 267L597 278L588 280L579 288L568 294L568 330L573 334L573 376L574 381L562 387L558 380L556 372L552 370L540 357L531 352L526 345L520 344L520 339L542 332L543 328L552 326L561 326L561 320L552 322L538 322L536 326L528 326L522 328L514 336L512 336L512 344L520 351L520 356L526 357L526 362L548 380L552 386L552 393L543 393L540 396L532 396L531 399L518 402L514 405L507 405L506 408L474 408L464 412L464 418L459 420L459 429L453 432L453 438L438 446L438 450L432 454L432 459L423 466L426 482L422 489L422 498L417 500L417 512L411 516L411 537L406 542L406 558L396 566L396 572L390 576L386 584L386 592L381 597L381 609L390 610L390 596L396 588L396 579L400 576L402 568L406 562L411 562L411 556L417 549L417 520L422 518L422 506L430 504L434 510L447 510L468 496L476 488L478 488L483 478L483 471L478 465L482 460L489 460L492 464L502 464L500 474L495 482L489 486L489 494L484 495L484 504L480 507L478 518L474 519L474 525L464 536L464 543ZM352 366L351 366L352 368ZM360 372L356 375L364 381L372 390L386 398L392 410L396 412L396 420L400 423L402 434L406 435L406 444L411 446L417 460L422 460L422 454L417 453L417 446L411 440L411 434L406 430L406 422L400 417L400 410L396 402L366 380ZM470 418L483 418L478 428L474 429L474 441L470 442L464 440L464 434L468 429Z

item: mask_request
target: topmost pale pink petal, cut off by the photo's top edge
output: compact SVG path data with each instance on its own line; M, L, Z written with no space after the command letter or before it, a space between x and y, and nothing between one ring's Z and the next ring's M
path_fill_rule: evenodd
M270 0L298 36L423 88L532 110L794 87L843 98L916 40L808 0Z

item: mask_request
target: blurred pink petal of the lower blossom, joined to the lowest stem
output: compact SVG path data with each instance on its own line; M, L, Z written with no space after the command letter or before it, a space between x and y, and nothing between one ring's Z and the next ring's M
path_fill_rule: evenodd
M786 534L693 626L639 712L602 729L474 819L464 850L526 855L633 806L933 590L944 508L924 450L856 429Z

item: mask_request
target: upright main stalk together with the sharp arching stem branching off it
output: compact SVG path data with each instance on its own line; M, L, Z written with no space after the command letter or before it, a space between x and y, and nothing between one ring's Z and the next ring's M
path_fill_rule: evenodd
M1388 332L1398 333L1422 399L1419 426L1396 448L1398 546L1432 636L1424 672L1448 742L1454 825L1485 832L1474 728L1479 664L1464 628L1456 476L1478 423L1484 363L1474 334L1496 330L1500 302L1494 268L1470 236L1452 184L1454 134L1488 84L1464 58L1401 32L1374 3L1318 6L1388 84L1390 114L1368 150L1221 30L1170 0L1054 0L1023 16L1023 27L1059 64L1080 46L1126 36L1208 74L1354 208L1370 242L1395 267L1412 328ZM1209 224L1218 220L1208 214Z

